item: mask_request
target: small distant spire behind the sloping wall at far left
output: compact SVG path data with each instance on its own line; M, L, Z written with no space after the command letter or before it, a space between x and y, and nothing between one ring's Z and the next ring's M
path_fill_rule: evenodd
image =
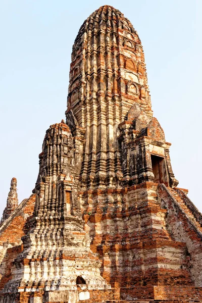
M11 187L7 198L7 206L4 210L1 224L15 211L18 207L18 194L17 194L17 179L12 178Z

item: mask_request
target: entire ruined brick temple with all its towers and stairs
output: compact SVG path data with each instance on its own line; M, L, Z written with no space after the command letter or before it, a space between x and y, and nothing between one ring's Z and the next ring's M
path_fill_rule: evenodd
M46 131L19 206L12 179L0 303L201 302L202 216L176 187L170 145L137 32L100 7L73 45L66 123Z

